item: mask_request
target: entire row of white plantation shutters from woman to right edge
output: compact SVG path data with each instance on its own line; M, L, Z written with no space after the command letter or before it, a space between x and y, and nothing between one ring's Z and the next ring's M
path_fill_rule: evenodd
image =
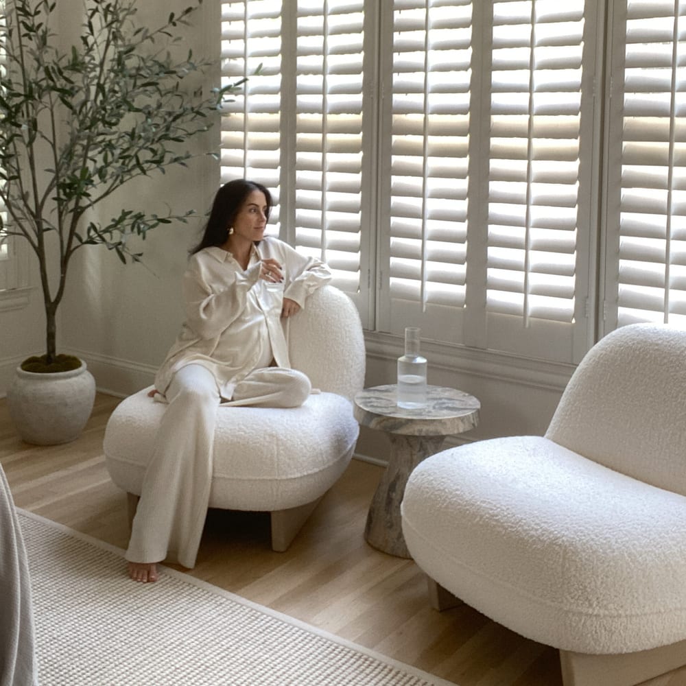
M686 323L686 0L223 8L227 78L264 65L224 177L367 327L577 362L596 322Z

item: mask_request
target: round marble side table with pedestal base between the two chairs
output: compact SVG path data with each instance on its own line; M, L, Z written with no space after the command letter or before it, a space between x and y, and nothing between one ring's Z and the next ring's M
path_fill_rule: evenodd
M437 453L446 436L461 434L479 423L481 403L468 393L428 386L427 405L405 410L396 404L397 386L364 388L355 395L360 425L386 431L390 460L372 499L364 530L366 541L383 552L410 558L401 523L400 504L412 470Z

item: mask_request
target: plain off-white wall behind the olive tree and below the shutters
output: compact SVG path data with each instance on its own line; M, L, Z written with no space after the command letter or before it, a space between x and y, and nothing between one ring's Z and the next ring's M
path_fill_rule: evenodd
M176 4L171 3L172 8ZM154 10L169 12L169 7L168 1L151 1L145 4L145 12L154 16ZM218 35L219 27L213 30ZM219 43L218 38L200 30L187 32L187 39L199 54L205 45ZM209 145L211 138L218 136L215 128L198 143ZM130 206L164 213L169 204L172 211L195 209L202 217L216 190L216 164L203 157L189 169L136 181L113 198L110 209L115 212L119 206ZM99 211L104 216L107 208ZM145 266L121 265L114 253L102 247L84 248L75 258L60 313L58 341L62 352L86 360L100 390L123 396L152 383L182 321L180 277L187 249L198 240L200 217L188 225L161 226L150 233L141 244ZM0 310L0 394L8 383L9 370L25 357L23 351L42 348L43 316L37 296L37 291L32 292L31 302L23 309ZM370 334L367 347L367 385L392 383L395 360L402 354L401 340ZM453 443L542 434L572 371L568 365L431 343L425 344L424 353L429 359L429 383L460 388L482 403L480 426L449 441ZM377 431L363 429L358 452L383 461L388 441Z

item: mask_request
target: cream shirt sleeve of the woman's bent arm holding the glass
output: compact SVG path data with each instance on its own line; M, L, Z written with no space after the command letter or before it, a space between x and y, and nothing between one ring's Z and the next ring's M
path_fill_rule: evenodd
M183 296L186 323L196 335L215 338L240 316L259 270L259 263L255 263L246 272L234 270L229 279L217 283L211 278L211 270L202 269L198 261L191 264L183 276Z

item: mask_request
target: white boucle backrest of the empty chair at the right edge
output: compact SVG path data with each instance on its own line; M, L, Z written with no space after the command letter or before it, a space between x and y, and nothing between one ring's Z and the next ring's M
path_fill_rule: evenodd
M582 359L547 438L686 495L686 331L630 324Z

